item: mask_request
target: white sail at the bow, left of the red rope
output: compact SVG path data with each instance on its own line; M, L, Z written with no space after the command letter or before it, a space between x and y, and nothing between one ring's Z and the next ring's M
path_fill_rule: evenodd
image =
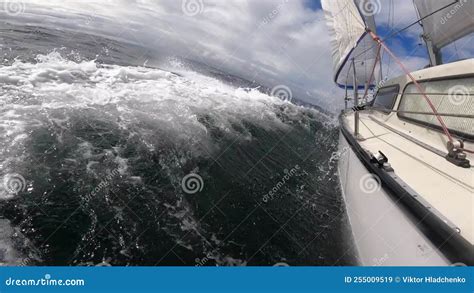
M356 65L357 87L369 82L376 61L377 46L366 33L366 19L358 3L321 0L331 36L334 81L340 87L351 88L354 84L352 59Z

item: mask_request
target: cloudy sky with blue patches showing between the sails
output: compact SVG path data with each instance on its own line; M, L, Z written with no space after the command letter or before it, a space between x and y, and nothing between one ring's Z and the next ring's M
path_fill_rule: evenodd
M382 35L416 20L411 0L374 1ZM118 38L268 87L285 85L322 106L341 96L319 0L0 0L2 8L30 23ZM428 63L420 34L416 25L389 43L410 69Z

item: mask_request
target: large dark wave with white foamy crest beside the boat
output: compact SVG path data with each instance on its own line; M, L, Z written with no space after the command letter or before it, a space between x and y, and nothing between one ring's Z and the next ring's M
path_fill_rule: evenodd
M0 210L29 239L19 253L34 247L31 262L46 265L334 259L309 241L314 231L339 237L340 220L327 228L341 205L333 121L256 88L176 72L56 51L0 67L0 165L25 184ZM196 194L183 188L189 174L200 178Z

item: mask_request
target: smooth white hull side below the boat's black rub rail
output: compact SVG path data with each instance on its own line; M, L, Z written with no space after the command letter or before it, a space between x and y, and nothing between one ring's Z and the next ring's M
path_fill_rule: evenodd
M342 133L339 150L341 190L359 265L450 265L419 222L367 170Z

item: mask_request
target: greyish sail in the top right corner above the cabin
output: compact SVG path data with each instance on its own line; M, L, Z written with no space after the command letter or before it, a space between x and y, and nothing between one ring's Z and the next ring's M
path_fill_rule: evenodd
M449 4L452 5L422 20L425 38L438 49L474 32L474 1L415 0L420 18Z

